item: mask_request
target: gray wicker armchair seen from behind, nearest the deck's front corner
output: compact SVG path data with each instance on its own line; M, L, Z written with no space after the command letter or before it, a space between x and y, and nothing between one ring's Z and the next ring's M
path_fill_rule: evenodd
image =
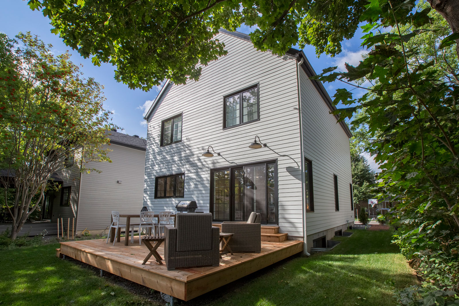
M211 213L177 213L175 227L164 228L164 259L168 270L176 267L218 266L219 229Z

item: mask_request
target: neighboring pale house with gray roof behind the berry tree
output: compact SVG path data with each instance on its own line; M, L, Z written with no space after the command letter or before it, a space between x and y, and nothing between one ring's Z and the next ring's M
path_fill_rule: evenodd
M87 168L101 173L80 172L77 158L69 158L67 166L57 173L62 179L58 192L45 195L43 219L56 222L75 218L75 234L87 228L101 234L110 225L111 212L132 213L142 208L145 175L145 139L115 130L108 132L110 145L105 146L112 162L90 162ZM70 221L72 226L72 221Z

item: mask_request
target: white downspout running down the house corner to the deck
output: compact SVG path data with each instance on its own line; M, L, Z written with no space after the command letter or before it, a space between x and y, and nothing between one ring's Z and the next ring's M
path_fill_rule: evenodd
M298 90L298 117L300 121L300 156L301 156L301 194L302 194L302 216L303 216L303 254L306 256L310 256L311 254L308 253L308 239L306 235L306 207L305 207L305 199L306 199L306 188L304 188L304 184L306 181L305 173L304 173L304 148L303 148L303 115L301 111L301 87L300 87L300 67L303 63L304 58L297 63L297 90Z

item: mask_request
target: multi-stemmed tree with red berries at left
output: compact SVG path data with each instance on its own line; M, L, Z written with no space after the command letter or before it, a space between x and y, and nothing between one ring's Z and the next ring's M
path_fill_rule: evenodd
M54 56L30 33L16 37L0 34L0 186L12 239L69 156L78 156L82 171L95 170L85 168L88 161L109 161L101 85L83 79L68 53Z

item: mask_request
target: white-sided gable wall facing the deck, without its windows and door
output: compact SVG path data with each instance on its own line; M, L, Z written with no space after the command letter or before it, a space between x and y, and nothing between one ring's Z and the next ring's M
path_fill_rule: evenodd
M296 60L260 52L251 42L220 33L228 55L202 68L198 82L172 84L148 118L144 204L175 210L196 200L209 211L210 169L278 160L280 231L302 237L301 157ZM259 83L260 121L223 130L223 96ZM183 113L182 141L160 147L161 122ZM249 149L258 135L269 148ZM212 145L222 156L203 157ZM185 197L155 199L155 176L185 172Z

